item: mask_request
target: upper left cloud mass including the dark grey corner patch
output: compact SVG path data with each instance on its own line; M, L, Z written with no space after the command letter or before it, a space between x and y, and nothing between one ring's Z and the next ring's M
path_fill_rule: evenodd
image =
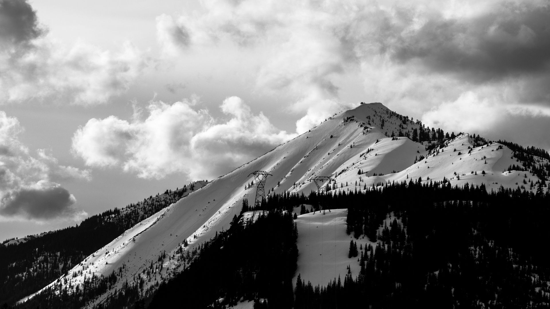
M0 0L0 103L31 99L105 103L128 90L146 65L125 42L117 53L47 35L26 0Z

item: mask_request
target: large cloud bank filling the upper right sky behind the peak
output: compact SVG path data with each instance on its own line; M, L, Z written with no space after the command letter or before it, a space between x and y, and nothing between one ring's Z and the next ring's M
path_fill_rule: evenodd
M415 118L471 98L470 92L510 115L530 106L538 112L522 117L532 118L550 106L547 1L201 4L201 13L157 20L161 45L190 58L219 51L211 59L220 70L225 56L245 54L252 65L241 74L254 76L255 90L283 97L289 112L305 114L296 123L299 133L348 107L343 97L353 96L343 90L360 93L355 102L383 102ZM550 147L547 137L543 144Z

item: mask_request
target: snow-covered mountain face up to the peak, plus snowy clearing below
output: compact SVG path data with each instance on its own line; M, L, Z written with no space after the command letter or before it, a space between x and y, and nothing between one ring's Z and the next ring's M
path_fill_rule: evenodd
M335 179L323 189L327 192L365 192L401 181L442 181L453 187L470 184L484 187L487 192L501 187L541 190L546 179L535 173L547 175L545 167L550 170L548 158L544 158L547 153L542 153L542 157L531 154L528 161L535 163L530 170L520 162L521 153L524 152L487 142L479 136L464 133L445 136L442 130L425 128L419 121L394 113L381 103L361 104L333 115L130 227L41 291L70 294L84 285L105 285L99 295L87 302L87 307L100 306L128 284L139 284L144 295L152 295L163 280L189 266L204 241L230 228L234 216L240 214L243 200L254 205L256 190L254 185L250 186L254 180L250 174L256 170L272 175L265 185L268 195L309 194L317 190L310 181L315 176ZM341 248L348 249L349 236L344 230L346 212L334 211L322 218L312 216L307 214L298 219L300 256L296 273L301 273L302 279L306 276L313 285L326 284L338 275L344 277L348 271L337 257L323 262L324 257L335 256ZM311 219L325 220L316 226L329 224L334 230L321 231L318 236L315 233L301 236L306 235L305 229L312 228ZM389 222L392 219L388 217ZM337 249L315 253L317 258L313 260L309 251L309 258L304 260L307 246L311 245L307 239L323 238L324 234L326 239L339 242ZM360 245L366 246L367 240L362 239ZM318 267L331 264L327 266L329 271L326 275L323 271L306 272L311 261Z

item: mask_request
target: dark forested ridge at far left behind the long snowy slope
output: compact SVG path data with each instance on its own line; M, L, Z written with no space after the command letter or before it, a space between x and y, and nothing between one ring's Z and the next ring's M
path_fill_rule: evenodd
M122 209L109 209L80 225L27 242L0 245L0 304L14 304L50 284L125 230L177 202L188 190L194 190L194 184L166 190Z

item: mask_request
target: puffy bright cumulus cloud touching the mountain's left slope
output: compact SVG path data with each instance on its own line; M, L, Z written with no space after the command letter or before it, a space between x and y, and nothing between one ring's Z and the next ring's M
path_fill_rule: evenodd
M90 119L75 132L72 151L90 167L120 166L141 178L183 173L212 179L294 137L262 113L252 113L239 97L221 104L226 120L194 108L197 104L196 97L173 104L152 101L145 119Z

